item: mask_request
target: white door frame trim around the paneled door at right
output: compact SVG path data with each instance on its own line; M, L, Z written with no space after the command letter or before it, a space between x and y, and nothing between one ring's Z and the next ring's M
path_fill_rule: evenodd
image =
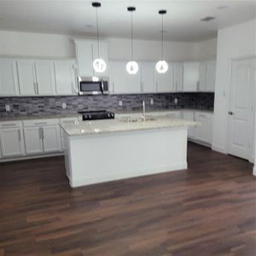
M231 107L231 87L232 87L232 64L234 61L243 61L243 60L252 60L255 59L256 61L256 55L244 55L242 57L235 57L230 59L230 73L229 73L229 86L228 86L228 97L227 97L227 108L226 108L226 117L227 117L227 123L226 123L226 131L227 131L227 137L226 137L226 154L230 154L230 136L228 134L228 131L230 130L230 115L229 110ZM254 86L254 95L253 97L256 97L256 84ZM256 130L256 103L254 102L254 114L253 114L253 131ZM254 138L255 137L255 138ZM256 140L255 134L253 134L253 142ZM256 148L255 148L256 150ZM253 162L253 147L252 152L250 156L247 159L250 162Z

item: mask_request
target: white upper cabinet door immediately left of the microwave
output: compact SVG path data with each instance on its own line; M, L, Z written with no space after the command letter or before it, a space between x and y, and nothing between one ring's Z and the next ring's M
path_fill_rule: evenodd
M55 61L55 81L57 95L75 95L75 61Z

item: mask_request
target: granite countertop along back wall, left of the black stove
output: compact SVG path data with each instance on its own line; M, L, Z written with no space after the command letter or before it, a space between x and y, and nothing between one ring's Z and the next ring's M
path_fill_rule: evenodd
M23 121L32 119L64 119L64 118L75 118L79 117L79 113L42 113L35 115L18 115L18 116L8 116L0 117L0 122L4 121Z

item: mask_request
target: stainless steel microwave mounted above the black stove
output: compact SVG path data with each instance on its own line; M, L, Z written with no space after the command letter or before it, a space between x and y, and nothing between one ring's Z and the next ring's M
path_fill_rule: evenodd
M108 78L79 78L79 95L108 94Z

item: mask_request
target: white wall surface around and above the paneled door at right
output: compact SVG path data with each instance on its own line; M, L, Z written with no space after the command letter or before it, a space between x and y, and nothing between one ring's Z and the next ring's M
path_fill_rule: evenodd
M218 31L212 148L227 153L231 60L256 55L256 20Z

